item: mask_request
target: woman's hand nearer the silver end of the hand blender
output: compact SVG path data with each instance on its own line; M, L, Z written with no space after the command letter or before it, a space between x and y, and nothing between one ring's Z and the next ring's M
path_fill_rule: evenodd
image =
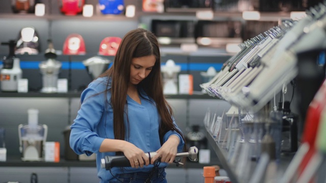
M169 139L159 148L156 150L156 155L151 160L151 164L154 164L155 160L161 157L161 162L165 163L173 163L175 156L178 152L178 145L180 139L176 135L171 135Z

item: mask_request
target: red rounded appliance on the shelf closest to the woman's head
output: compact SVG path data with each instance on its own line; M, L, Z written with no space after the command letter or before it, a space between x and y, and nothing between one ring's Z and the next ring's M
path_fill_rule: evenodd
M121 43L119 37L106 37L101 41L99 54L106 56L115 56Z

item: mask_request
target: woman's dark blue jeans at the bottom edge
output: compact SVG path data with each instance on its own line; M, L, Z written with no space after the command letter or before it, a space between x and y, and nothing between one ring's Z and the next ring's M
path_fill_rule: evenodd
M164 168L159 168L158 172L152 177L152 183L167 183L166 172ZM149 172L134 172L134 173L122 173L116 175L120 180L114 179L110 183L144 183L148 178Z

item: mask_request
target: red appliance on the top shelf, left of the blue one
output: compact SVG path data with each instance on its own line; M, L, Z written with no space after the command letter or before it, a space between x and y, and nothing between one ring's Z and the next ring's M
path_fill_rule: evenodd
M82 13L85 0L59 0L60 11L65 15L74 16Z

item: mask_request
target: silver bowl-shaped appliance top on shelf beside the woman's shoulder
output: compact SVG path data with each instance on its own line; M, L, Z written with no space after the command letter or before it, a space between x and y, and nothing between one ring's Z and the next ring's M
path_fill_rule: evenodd
M95 79L102 74L108 68L110 63L110 60L101 56L93 56L83 61L83 64L92 79Z

